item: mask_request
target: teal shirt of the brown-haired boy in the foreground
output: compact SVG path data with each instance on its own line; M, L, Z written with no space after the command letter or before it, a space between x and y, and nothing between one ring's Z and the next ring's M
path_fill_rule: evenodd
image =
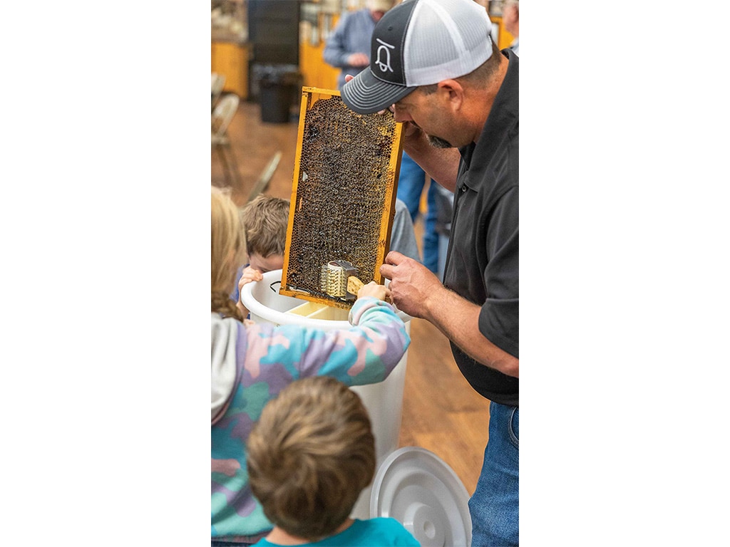
M271 543L266 538L254 544L255 547L280 547L278 543ZM361 521L356 519L353 524L339 534L331 535L315 543L304 543L311 547L390 547L407 546L420 547L411 533L396 519L379 516L377 519ZM302 546L302 547L303 547Z

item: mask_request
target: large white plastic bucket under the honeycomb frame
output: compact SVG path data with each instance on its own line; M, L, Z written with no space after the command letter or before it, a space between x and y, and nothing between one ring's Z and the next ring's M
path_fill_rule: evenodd
M321 306L308 300L280 295L281 274L281 270L266 272L262 281L249 283L243 287L241 300L250 311L250 318L253 322L302 325L322 330L350 328L350 322L347 321L349 312L347 309L330 306L322 309ZM292 313L295 308L299 313ZM312 311L312 313L307 314L308 311ZM402 311L399 311L398 315L403 319L406 332L410 335L411 317ZM380 468L380 464L388 457L388 454L398 448L407 357L408 352L403 355L388 378L379 384L352 388L360 395L370 415L377 456L376 470ZM353 508L354 519L370 518L371 489L372 486L368 486L360 494L358 502Z

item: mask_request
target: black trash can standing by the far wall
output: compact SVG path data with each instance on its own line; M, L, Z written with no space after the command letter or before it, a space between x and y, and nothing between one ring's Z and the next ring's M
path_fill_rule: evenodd
M261 121L290 122L291 106L297 90L301 88L301 74L291 65L264 65L257 68Z

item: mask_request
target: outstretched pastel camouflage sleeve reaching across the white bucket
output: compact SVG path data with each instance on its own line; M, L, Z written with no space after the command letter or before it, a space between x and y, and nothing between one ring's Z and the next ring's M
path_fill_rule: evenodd
M404 322L377 298L359 298L345 330L259 324L247 328L249 381L283 368L291 379L333 376L347 385L374 384L393 371L410 345ZM277 371L283 372L283 371Z

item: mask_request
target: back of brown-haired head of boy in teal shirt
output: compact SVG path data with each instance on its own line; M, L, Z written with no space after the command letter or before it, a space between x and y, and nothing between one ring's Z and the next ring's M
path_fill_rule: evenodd
M266 517L312 541L337 530L375 472L367 410L328 376L294 381L269 401L247 451L251 490Z

